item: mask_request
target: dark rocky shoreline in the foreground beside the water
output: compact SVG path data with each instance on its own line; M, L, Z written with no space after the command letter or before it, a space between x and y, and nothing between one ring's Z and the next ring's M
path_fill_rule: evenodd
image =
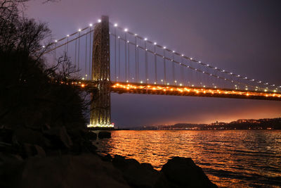
M124 156L100 156L93 140L110 132L65 127L0 132L0 187L217 187L191 158L162 170Z

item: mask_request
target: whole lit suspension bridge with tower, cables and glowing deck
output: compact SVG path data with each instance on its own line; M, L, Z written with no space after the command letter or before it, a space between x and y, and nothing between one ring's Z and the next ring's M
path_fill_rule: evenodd
M50 63L66 56L75 84L92 92L89 127L113 127L110 93L207 96L281 101L281 86L239 75L180 54L110 23L95 24L43 46Z

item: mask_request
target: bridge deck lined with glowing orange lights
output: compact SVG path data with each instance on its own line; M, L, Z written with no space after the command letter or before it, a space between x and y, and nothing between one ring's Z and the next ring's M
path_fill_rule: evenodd
M96 89L96 82L89 80L79 80L74 82L84 89ZM281 101L280 92L256 92L239 89L221 89L207 87L185 87L163 84L141 84L141 83L126 83L112 82L111 92L118 94L158 94L158 95L173 95L173 96L205 96L205 97L220 97L233 99L260 99L270 101Z

